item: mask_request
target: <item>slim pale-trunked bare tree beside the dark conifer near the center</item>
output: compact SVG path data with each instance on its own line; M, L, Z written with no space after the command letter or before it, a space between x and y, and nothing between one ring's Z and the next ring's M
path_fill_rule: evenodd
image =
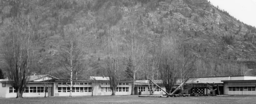
M130 33L128 33L125 43L127 49L126 53L129 58L129 64L127 66L129 72L126 71L126 74L130 76L129 80L133 82L131 95L134 95L135 80L141 77L138 72L143 69L144 65L146 52L145 33L140 34L135 28L130 28Z

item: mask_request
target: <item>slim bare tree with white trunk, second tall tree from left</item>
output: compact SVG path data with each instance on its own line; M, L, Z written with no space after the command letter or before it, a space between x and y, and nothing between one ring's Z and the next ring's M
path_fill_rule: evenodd
M62 67L60 73L63 78L69 81L66 85L70 88L69 96L72 96L72 87L77 80L77 74L82 71L83 64L80 62L84 52L80 49L75 33L71 31L68 41L62 50L60 65Z

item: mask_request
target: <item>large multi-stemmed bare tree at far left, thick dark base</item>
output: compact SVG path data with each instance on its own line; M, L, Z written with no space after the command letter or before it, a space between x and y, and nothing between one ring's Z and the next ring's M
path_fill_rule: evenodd
M32 57L33 30L29 16L19 15L11 19L7 27L9 35L5 39L5 61L7 73L13 88L17 91L16 98L22 98L30 75L29 66Z

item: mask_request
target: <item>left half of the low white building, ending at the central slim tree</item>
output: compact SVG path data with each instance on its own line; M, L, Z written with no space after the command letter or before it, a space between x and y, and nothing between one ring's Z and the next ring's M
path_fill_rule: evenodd
M47 89L43 87L43 80L50 80ZM11 86L10 80L0 79L0 98L16 97L16 90ZM89 77L87 80L76 80L73 83L72 96L87 96L87 95L111 95L110 82L108 77ZM29 76L27 87L23 93L23 97L44 97L46 96L69 96L70 83L67 80L55 78L49 75L34 75ZM92 89L93 85L95 86ZM116 95L130 95L132 82L120 80Z

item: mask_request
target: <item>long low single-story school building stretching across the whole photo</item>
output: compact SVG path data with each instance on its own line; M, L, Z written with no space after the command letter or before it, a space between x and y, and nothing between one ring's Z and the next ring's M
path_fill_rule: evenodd
M42 81L50 79L49 86L44 89ZM178 79L175 86L181 84L181 79ZM153 80L163 90L165 86L162 80ZM16 90L11 86L10 80L0 79L0 98L16 97ZM77 80L73 83L72 96L90 96L93 95L111 95L110 82L108 77L89 77L87 80ZM135 95L149 95L152 82L148 80L136 80L134 93ZM70 83L67 80L55 78L50 75L34 75L29 76L27 87L23 93L23 97L44 97L46 96L69 96ZM92 86L95 85L94 89ZM254 76L222 76L222 77L201 77L190 78L184 84L182 93L191 94L224 94L224 95L256 95L255 91L256 77ZM165 94L160 88L155 87L153 94ZM216 90L217 87L219 91ZM120 80L116 95L130 95L132 91L132 81Z

